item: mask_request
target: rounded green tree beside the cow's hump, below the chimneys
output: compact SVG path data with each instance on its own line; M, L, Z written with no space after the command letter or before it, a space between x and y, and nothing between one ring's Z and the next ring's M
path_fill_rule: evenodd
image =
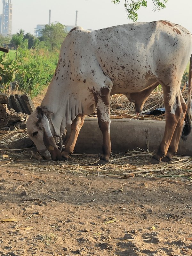
M42 36L39 38L40 41L45 41L45 44L53 48L60 48L63 39L67 36L65 32L65 26L61 23L45 25L45 28L41 30Z

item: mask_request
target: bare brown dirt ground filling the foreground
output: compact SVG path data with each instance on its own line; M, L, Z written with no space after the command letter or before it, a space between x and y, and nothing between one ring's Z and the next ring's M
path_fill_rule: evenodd
M108 174L148 168L148 157L92 170L79 157L5 159L12 162L0 167L1 256L192 255L191 170L178 184L151 179L164 173L163 163L120 179Z

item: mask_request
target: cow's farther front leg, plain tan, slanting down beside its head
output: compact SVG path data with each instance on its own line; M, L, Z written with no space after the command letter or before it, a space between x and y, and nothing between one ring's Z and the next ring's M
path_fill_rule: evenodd
M61 155L67 159L68 156L73 153L73 150L75 148L76 140L79 135L79 132L81 130L81 127L84 124L85 115L79 114L76 116L75 120L73 120L73 123L71 124L71 134L69 139L66 141L65 149L61 152Z

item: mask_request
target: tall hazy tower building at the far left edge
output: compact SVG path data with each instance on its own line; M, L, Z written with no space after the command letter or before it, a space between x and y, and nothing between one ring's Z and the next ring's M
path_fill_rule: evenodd
M3 14L0 15L0 34L10 36L12 32L12 3L3 0Z

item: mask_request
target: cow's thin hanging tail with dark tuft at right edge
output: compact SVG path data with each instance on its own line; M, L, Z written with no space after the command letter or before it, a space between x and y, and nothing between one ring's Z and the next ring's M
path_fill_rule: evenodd
M183 127L183 132L181 136L182 140L187 140L187 136L191 132L191 120L192 120L191 87L192 87L192 54L191 54L190 64L189 64L188 102L187 102L187 112L185 115L185 125Z

